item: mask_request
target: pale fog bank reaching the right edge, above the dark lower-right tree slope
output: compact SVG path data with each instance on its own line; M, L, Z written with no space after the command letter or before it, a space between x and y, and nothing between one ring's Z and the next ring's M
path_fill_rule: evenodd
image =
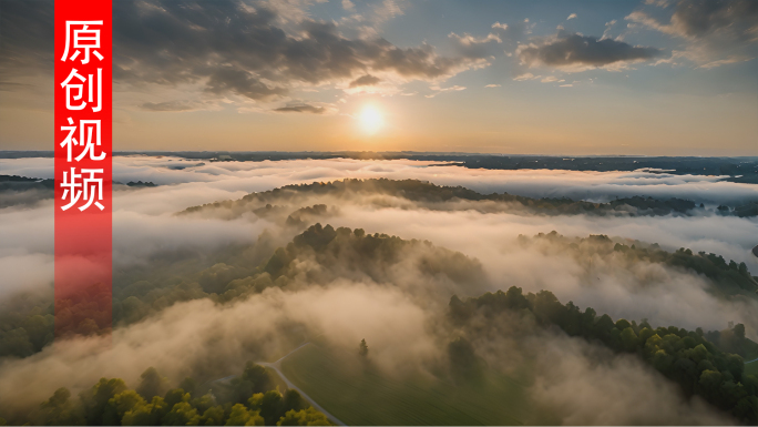
M657 242L669 251L684 246L693 251L717 252L746 262L754 272L758 271L758 263L750 260L749 246L755 237L738 235L755 227L751 221L723 221L718 217L593 218L584 215L540 217L472 211L423 211L411 205L382 210L345 205L340 212L339 217L329 220L335 226L360 226L367 233L385 230L385 233L404 238L430 240L439 246L475 257L498 288L515 285L529 292L550 289L563 302L573 301L582 307L608 313L614 318L648 318L656 325L692 329L723 329L727 322L735 321L752 325L749 328L758 331L758 322L751 315L758 309L755 301L721 302L709 293L703 277L692 273L647 263L629 266L619 258L602 260L588 254L584 254L583 260L581 254L574 257L571 251L543 253L536 247L516 244L520 234L533 236L549 228L567 236L586 237L602 233ZM730 231L730 226L737 227L736 231ZM472 240L472 235L478 237Z

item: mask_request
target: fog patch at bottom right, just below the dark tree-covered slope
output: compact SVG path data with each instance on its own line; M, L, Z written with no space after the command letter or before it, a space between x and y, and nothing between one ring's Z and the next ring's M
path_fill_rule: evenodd
M530 392L564 425L731 425L637 357L554 336L536 343L541 374Z

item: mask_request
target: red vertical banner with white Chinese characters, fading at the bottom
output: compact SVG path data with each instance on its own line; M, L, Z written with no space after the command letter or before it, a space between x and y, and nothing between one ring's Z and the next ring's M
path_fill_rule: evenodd
M112 3L55 1L55 337L112 326Z

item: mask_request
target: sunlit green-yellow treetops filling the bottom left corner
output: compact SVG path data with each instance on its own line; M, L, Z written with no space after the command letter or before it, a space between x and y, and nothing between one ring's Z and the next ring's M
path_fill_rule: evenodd
M274 389L266 369L248 363L228 385L202 386L185 378L170 388L154 368L131 389L121 378L101 378L73 397L59 388L35 409L0 425L43 426L330 426L293 389ZM1 405L1 404L0 404Z

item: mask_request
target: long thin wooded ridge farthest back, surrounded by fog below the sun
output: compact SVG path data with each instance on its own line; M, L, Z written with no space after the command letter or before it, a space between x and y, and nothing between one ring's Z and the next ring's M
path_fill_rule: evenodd
M357 196L391 196L420 204L431 210L478 210L480 212L513 212L541 215L689 215L705 207L682 199L658 200L653 197L625 197L607 203L573 201L571 199L532 199L508 193L481 194L463 186L436 185L417 180L347 179L334 182L286 185L279 189L252 193L237 201L209 203L188 207L182 213L224 210L232 216L259 210L266 205L306 203L307 200L334 197L358 202ZM455 205L454 202L459 204ZM758 205L757 205L758 206ZM718 212L723 215L750 216L758 214L750 206L728 207Z

